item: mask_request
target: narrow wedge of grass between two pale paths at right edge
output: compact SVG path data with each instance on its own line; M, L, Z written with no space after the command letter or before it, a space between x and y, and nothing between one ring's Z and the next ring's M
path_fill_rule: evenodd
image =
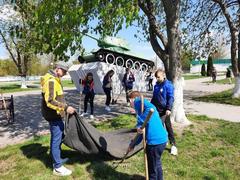
M232 92L233 90L230 89L227 91L214 93L207 96L194 97L193 100L240 106L240 98L232 98L232 94L233 94Z

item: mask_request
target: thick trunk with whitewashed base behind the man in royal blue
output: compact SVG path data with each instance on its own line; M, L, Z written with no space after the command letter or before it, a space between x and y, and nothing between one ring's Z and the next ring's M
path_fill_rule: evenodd
M179 37L179 19L180 19L180 1L163 0L164 12L166 13L166 26L168 37L169 54L169 76L168 79L174 83L174 105L171 120L182 124L190 122L185 116L183 108L183 78L180 61L180 37Z

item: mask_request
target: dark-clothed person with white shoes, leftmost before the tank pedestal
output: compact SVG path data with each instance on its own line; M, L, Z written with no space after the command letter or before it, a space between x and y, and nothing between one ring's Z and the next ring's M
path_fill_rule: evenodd
M87 115L87 106L88 102L90 103L91 107L91 115L90 119L94 119L93 116L93 100L94 100L94 81L93 81L93 74L91 72L87 73L84 80L82 80L83 91L82 93L85 95L84 97L84 112L81 116Z

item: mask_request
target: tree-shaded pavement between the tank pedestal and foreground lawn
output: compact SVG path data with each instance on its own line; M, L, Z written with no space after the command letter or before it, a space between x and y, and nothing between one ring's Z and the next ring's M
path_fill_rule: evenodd
M24 141L31 137L49 133L48 122L41 115L41 93L40 90L6 93L4 96L14 95L15 122L7 124L4 111L0 111L0 148L9 144ZM83 100L75 88L65 88L65 97L69 105L75 107L77 112L81 104L83 111ZM80 103L79 103L80 102ZM125 98L118 99L118 104L112 105L110 113L105 111L105 96L95 96L95 121L104 121L117 117L120 114L129 113ZM90 107L88 108L90 110ZM89 116L84 118L89 121Z

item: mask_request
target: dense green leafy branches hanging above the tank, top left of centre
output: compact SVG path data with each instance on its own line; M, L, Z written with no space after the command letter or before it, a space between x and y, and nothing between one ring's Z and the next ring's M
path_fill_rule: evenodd
M118 32L123 23L129 26L136 17L136 0L100 1L65 0L40 1L35 7L29 24L34 32L35 52L52 52L58 58L67 60L82 49L84 33L99 33L101 36ZM91 22L98 21L94 27ZM82 33L84 31L84 33Z

